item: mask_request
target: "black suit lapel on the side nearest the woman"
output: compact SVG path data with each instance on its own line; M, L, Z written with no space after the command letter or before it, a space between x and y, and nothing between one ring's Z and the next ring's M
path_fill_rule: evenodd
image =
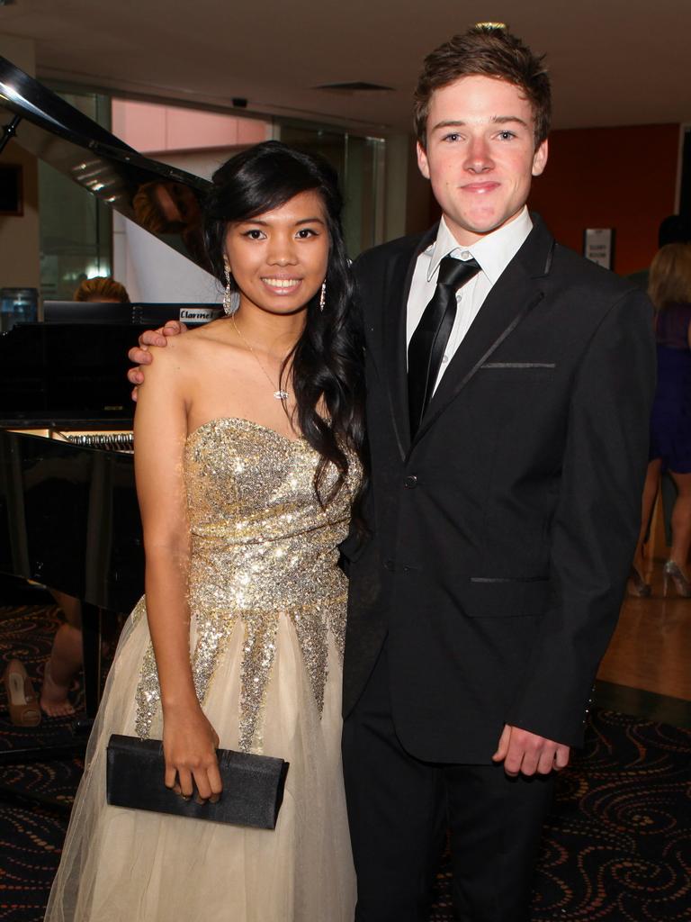
M407 303L417 256L427 249L437 237L437 227L427 231L417 246L406 248L387 266L384 287L385 302L381 325L384 379L387 384L396 440L401 457L410 447L410 420L408 417L408 373L405 325Z

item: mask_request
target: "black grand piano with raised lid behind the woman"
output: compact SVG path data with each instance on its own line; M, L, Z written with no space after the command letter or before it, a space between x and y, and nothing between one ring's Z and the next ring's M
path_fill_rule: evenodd
M0 123L0 162L15 138L206 268L199 221L205 180L137 154L3 57ZM141 207L159 191L184 204L173 228L152 222ZM101 613L128 612L144 587L125 356L156 316L133 311L118 324L24 324L0 336L0 573L81 600L89 717L99 701ZM63 751L14 751L0 764Z

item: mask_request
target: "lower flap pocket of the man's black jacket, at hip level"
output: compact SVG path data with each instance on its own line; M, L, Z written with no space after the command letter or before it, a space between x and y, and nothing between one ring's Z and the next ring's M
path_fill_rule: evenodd
M544 614L549 580L538 577L472 576L463 590L470 618L517 618Z

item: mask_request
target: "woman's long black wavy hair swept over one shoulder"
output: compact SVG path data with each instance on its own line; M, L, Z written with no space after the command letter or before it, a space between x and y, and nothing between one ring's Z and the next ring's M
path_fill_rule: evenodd
M318 193L326 212L329 262L326 305L319 292L307 305L305 328L288 355L299 430L322 456L314 486L322 505L334 499L348 472L346 450L365 461L365 386L361 325L354 284L341 227L343 201L333 168L311 154L279 141L265 141L244 150L220 167L205 200L205 246L212 270L224 282L223 254L228 224L256 218L285 205L302 192ZM338 477L324 490L331 462Z

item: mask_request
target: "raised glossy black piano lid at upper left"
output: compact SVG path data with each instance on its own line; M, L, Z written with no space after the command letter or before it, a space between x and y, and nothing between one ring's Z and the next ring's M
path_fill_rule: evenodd
M0 56L3 114L6 138L208 271L201 202L211 183L138 154Z

